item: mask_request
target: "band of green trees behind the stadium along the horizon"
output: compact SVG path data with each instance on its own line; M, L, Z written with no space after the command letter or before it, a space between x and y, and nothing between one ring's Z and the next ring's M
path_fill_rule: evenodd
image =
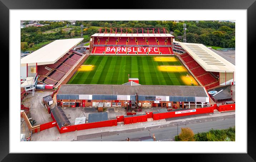
M79 37L81 34L80 25L84 25L87 30L83 31L84 42L90 40L90 36L99 32L99 28L143 28L147 32L147 28L164 28L167 32L173 32L177 41L178 36L183 36L183 23L187 24L187 42L202 43L204 45L235 47L235 23L219 22L219 21L76 21L75 26L71 22L49 22L40 21L40 24L49 24L45 26L32 26L21 29L21 42L33 44L47 42L58 39L69 39ZM71 30L64 30L69 25ZM54 30L55 29L55 30ZM47 33L46 31L53 30ZM152 31L151 31L152 32ZM27 48L27 46L25 45ZM22 50L26 50L22 49Z

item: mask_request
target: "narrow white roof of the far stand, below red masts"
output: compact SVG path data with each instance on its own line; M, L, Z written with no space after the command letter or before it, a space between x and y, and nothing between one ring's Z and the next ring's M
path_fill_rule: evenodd
M142 34L142 33L133 33L133 34L131 34L131 33L127 33L126 34L126 32L123 32L122 34L121 33L117 33L117 34L115 34L115 33L95 33L95 34L93 34L92 36L94 36L94 37L174 37L173 35L171 35L171 34L163 34L163 33L161 33L161 34L153 34L153 33L149 33L149 34L147 34L147 33L144 33L144 34Z

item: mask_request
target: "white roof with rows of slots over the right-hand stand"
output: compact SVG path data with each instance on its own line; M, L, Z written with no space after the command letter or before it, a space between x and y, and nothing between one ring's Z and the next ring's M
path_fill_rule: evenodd
M235 65L224 59L203 44L183 43L178 44L188 52L198 64L206 71L213 72L234 72Z

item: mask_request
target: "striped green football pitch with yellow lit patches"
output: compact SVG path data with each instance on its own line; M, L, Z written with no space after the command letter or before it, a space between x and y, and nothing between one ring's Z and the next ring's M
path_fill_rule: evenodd
M89 56L68 84L198 85L175 56ZM192 83L192 84L191 84Z

